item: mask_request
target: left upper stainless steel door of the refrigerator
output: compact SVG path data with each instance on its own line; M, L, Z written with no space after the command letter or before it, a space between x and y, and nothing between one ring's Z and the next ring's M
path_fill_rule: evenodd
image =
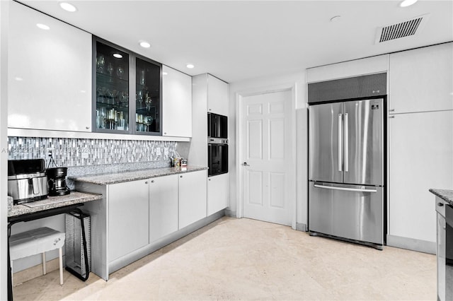
M309 179L343 182L342 103L309 107Z

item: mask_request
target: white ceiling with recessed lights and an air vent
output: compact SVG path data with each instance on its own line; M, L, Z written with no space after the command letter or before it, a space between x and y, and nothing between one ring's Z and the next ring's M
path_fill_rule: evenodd
M453 40L453 0L407 8L400 1L69 2L76 12L57 0L21 1L162 64L229 83ZM416 35L375 44L377 28L425 13Z

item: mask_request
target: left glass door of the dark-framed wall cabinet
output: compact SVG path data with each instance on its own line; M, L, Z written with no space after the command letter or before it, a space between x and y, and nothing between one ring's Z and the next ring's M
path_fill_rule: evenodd
M129 131L129 54L96 41L96 131Z

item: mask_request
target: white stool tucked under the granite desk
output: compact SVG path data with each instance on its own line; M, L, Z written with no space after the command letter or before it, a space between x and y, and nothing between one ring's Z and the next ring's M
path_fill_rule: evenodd
M13 266L13 260L42 253L42 274L45 275L45 252L59 249L59 284L63 285L64 237L64 232L47 227L11 235L9 238L11 266Z

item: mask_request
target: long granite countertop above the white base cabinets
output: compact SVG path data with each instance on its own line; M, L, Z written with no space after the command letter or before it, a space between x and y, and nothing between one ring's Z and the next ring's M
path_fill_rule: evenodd
M152 177L176 175L185 172L195 172L197 170L207 170L207 167L203 166L164 167L164 168L153 168L149 170L134 170L132 172L117 172L113 174L90 175L85 177L68 177L68 179L71 179L75 182L107 185L137 181L139 179L150 179Z

